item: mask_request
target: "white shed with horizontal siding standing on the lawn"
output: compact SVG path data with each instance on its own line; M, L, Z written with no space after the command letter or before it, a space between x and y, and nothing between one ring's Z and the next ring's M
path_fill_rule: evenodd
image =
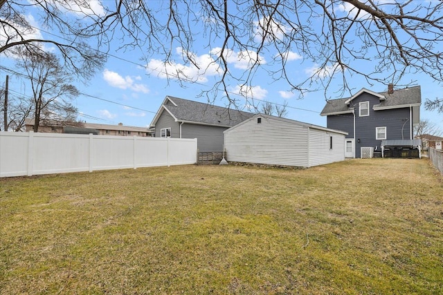
M346 132L258 114L224 131L226 160L311 167L345 160Z

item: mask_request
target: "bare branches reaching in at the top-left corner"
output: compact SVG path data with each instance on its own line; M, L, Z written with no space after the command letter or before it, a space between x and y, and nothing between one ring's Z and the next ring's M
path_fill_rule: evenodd
M34 16L40 17L35 19L39 26L52 31L51 37L43 37L41 30L35 27L33 19L29 18L30 10L35 10ZM0 0L0 54L17 57L26 53L27 56L44 57L47 46L52 46L51 50L57 50L63 66L87 81L106 60L106 55L98 48L87 44L92 36L80 34L80 21L89 23L89 13L94 19L95 12L89 1L83 0Z

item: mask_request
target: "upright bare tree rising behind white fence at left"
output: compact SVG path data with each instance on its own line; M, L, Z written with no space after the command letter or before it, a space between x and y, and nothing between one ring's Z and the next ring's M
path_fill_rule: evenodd
M34 132L38 132L41 122L75 121L77 108L71 104L71 99L79 92L69 84L73 80L71 73L51 53L28 55L25 51L20 56L17 66L25 70L33 91Z

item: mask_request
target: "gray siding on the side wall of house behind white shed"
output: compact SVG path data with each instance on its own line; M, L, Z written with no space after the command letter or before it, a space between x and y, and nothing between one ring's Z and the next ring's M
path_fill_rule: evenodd
M223 151L223 131L226 127L183 124L181 138L197 138L199 151Z

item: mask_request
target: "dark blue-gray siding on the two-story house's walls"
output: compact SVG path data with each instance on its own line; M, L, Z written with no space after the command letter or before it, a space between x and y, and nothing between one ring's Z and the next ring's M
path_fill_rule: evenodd
M369 116L359 116L359 103L369 102ZM369 93L362 93L351 102L355 108L355 156L360 158L363 146L372 146L380 150L381 140L376 140L376 128L386 127L387 140L410 139L409 108L392 108L374 111L374 104L379 104L379 98ZM354 137L352 114L327 116L327 128L346 131L347 138ZM359 142L360 140L360 142Z

